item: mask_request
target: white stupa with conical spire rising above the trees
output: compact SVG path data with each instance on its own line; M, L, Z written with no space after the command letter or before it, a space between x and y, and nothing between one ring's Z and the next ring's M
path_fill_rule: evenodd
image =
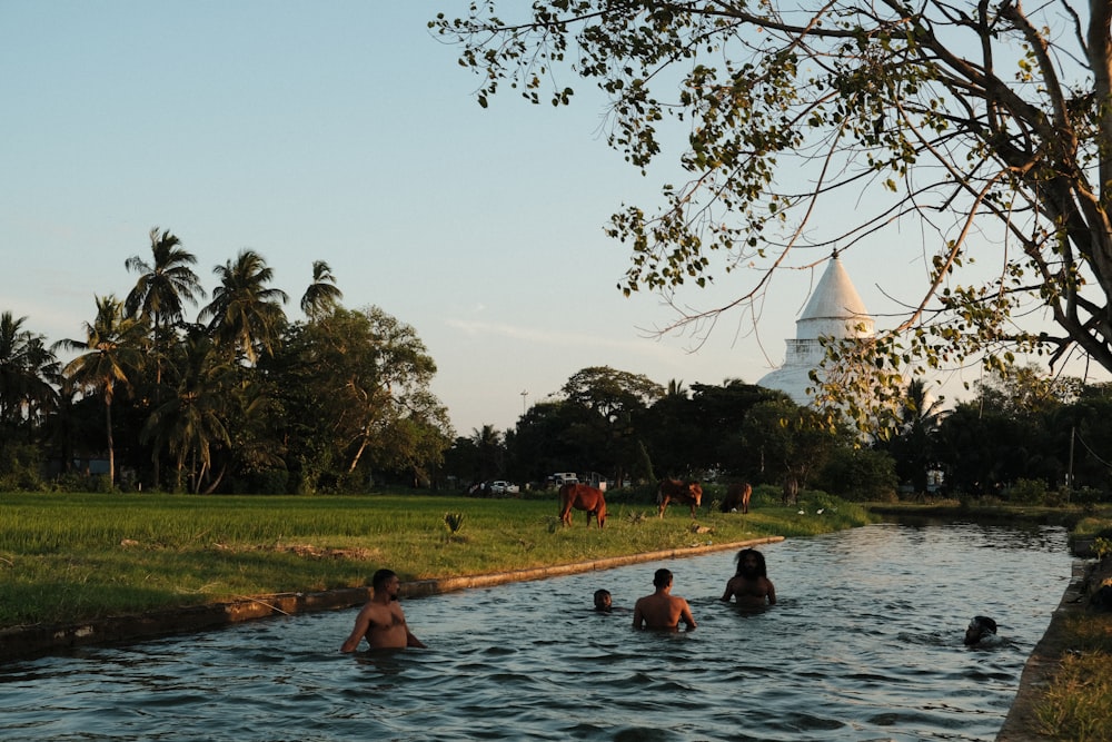
M811 372L818 368L825 353L818 338L871 337L874 332L873 318L835 253L806 309L795 320L795 339L786 340L784 365L766 374L757 386L778 389L795 404L808 405L807 387L814 386Z

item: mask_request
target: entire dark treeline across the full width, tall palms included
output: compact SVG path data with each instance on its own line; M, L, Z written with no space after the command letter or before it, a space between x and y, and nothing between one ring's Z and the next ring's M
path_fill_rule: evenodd
M327 263L312 264L290 320L264 258L215 268L150 233L123 299L98 297L82 337L49 344L0 315L0 489L193 493L363 492L373 483L470 489L544 485L554 472L609 482L745 479L843 497L897 493L1105 498L1112 387L1009 367L951 409L921 382L901 424L863 443L855 428L785 395L584 368L517 425L456 437L429 390L436 364L414 328L350 310ZM206 301L206 299L208 299ZM197 316L187 320L187 307ZM60 355L69 354L63 363Z

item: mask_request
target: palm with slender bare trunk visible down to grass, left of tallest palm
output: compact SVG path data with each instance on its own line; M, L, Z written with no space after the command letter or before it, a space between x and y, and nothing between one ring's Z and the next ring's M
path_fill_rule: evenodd
M97 297L97 318L85 324L83 340L64 339L54 348L85 352L69 362L66 377L85 392L105 396L105 427L108 435L108 483L116 483L116 446L112 439L112 397L117 384L129 384L141 367L147 339L147 325L128 317L123 303L115 296Z

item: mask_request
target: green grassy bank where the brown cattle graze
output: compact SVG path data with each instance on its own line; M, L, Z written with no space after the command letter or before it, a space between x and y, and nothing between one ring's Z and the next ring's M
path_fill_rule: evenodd
M620 497L615 497L620 499ZM451 577L768 535L862 525L863 508L824 501L704 507L656 517L614 502L606 528L556 518L543 499L383 494L348 497L0 495L0 629L71 623L250 595L365 585L380 566L404 580ZM447 514L461 515L453 532Z

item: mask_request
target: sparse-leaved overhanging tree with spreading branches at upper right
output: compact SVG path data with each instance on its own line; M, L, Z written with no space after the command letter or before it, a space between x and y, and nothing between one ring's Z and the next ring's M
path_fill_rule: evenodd
M917 261L893 326L831 353L868 370L827 393L878 398L909 370L1015 353L1112 369L1110 19L1095 0L476 0L430 27L481 76L483 106L505 85L568 105L578 76L632 165L682 142L686 182L608 227L632 250L620 290L675 307L664 329L705 337L773 271L835 249ZM676 300L727 274L747 277L725 303Z

